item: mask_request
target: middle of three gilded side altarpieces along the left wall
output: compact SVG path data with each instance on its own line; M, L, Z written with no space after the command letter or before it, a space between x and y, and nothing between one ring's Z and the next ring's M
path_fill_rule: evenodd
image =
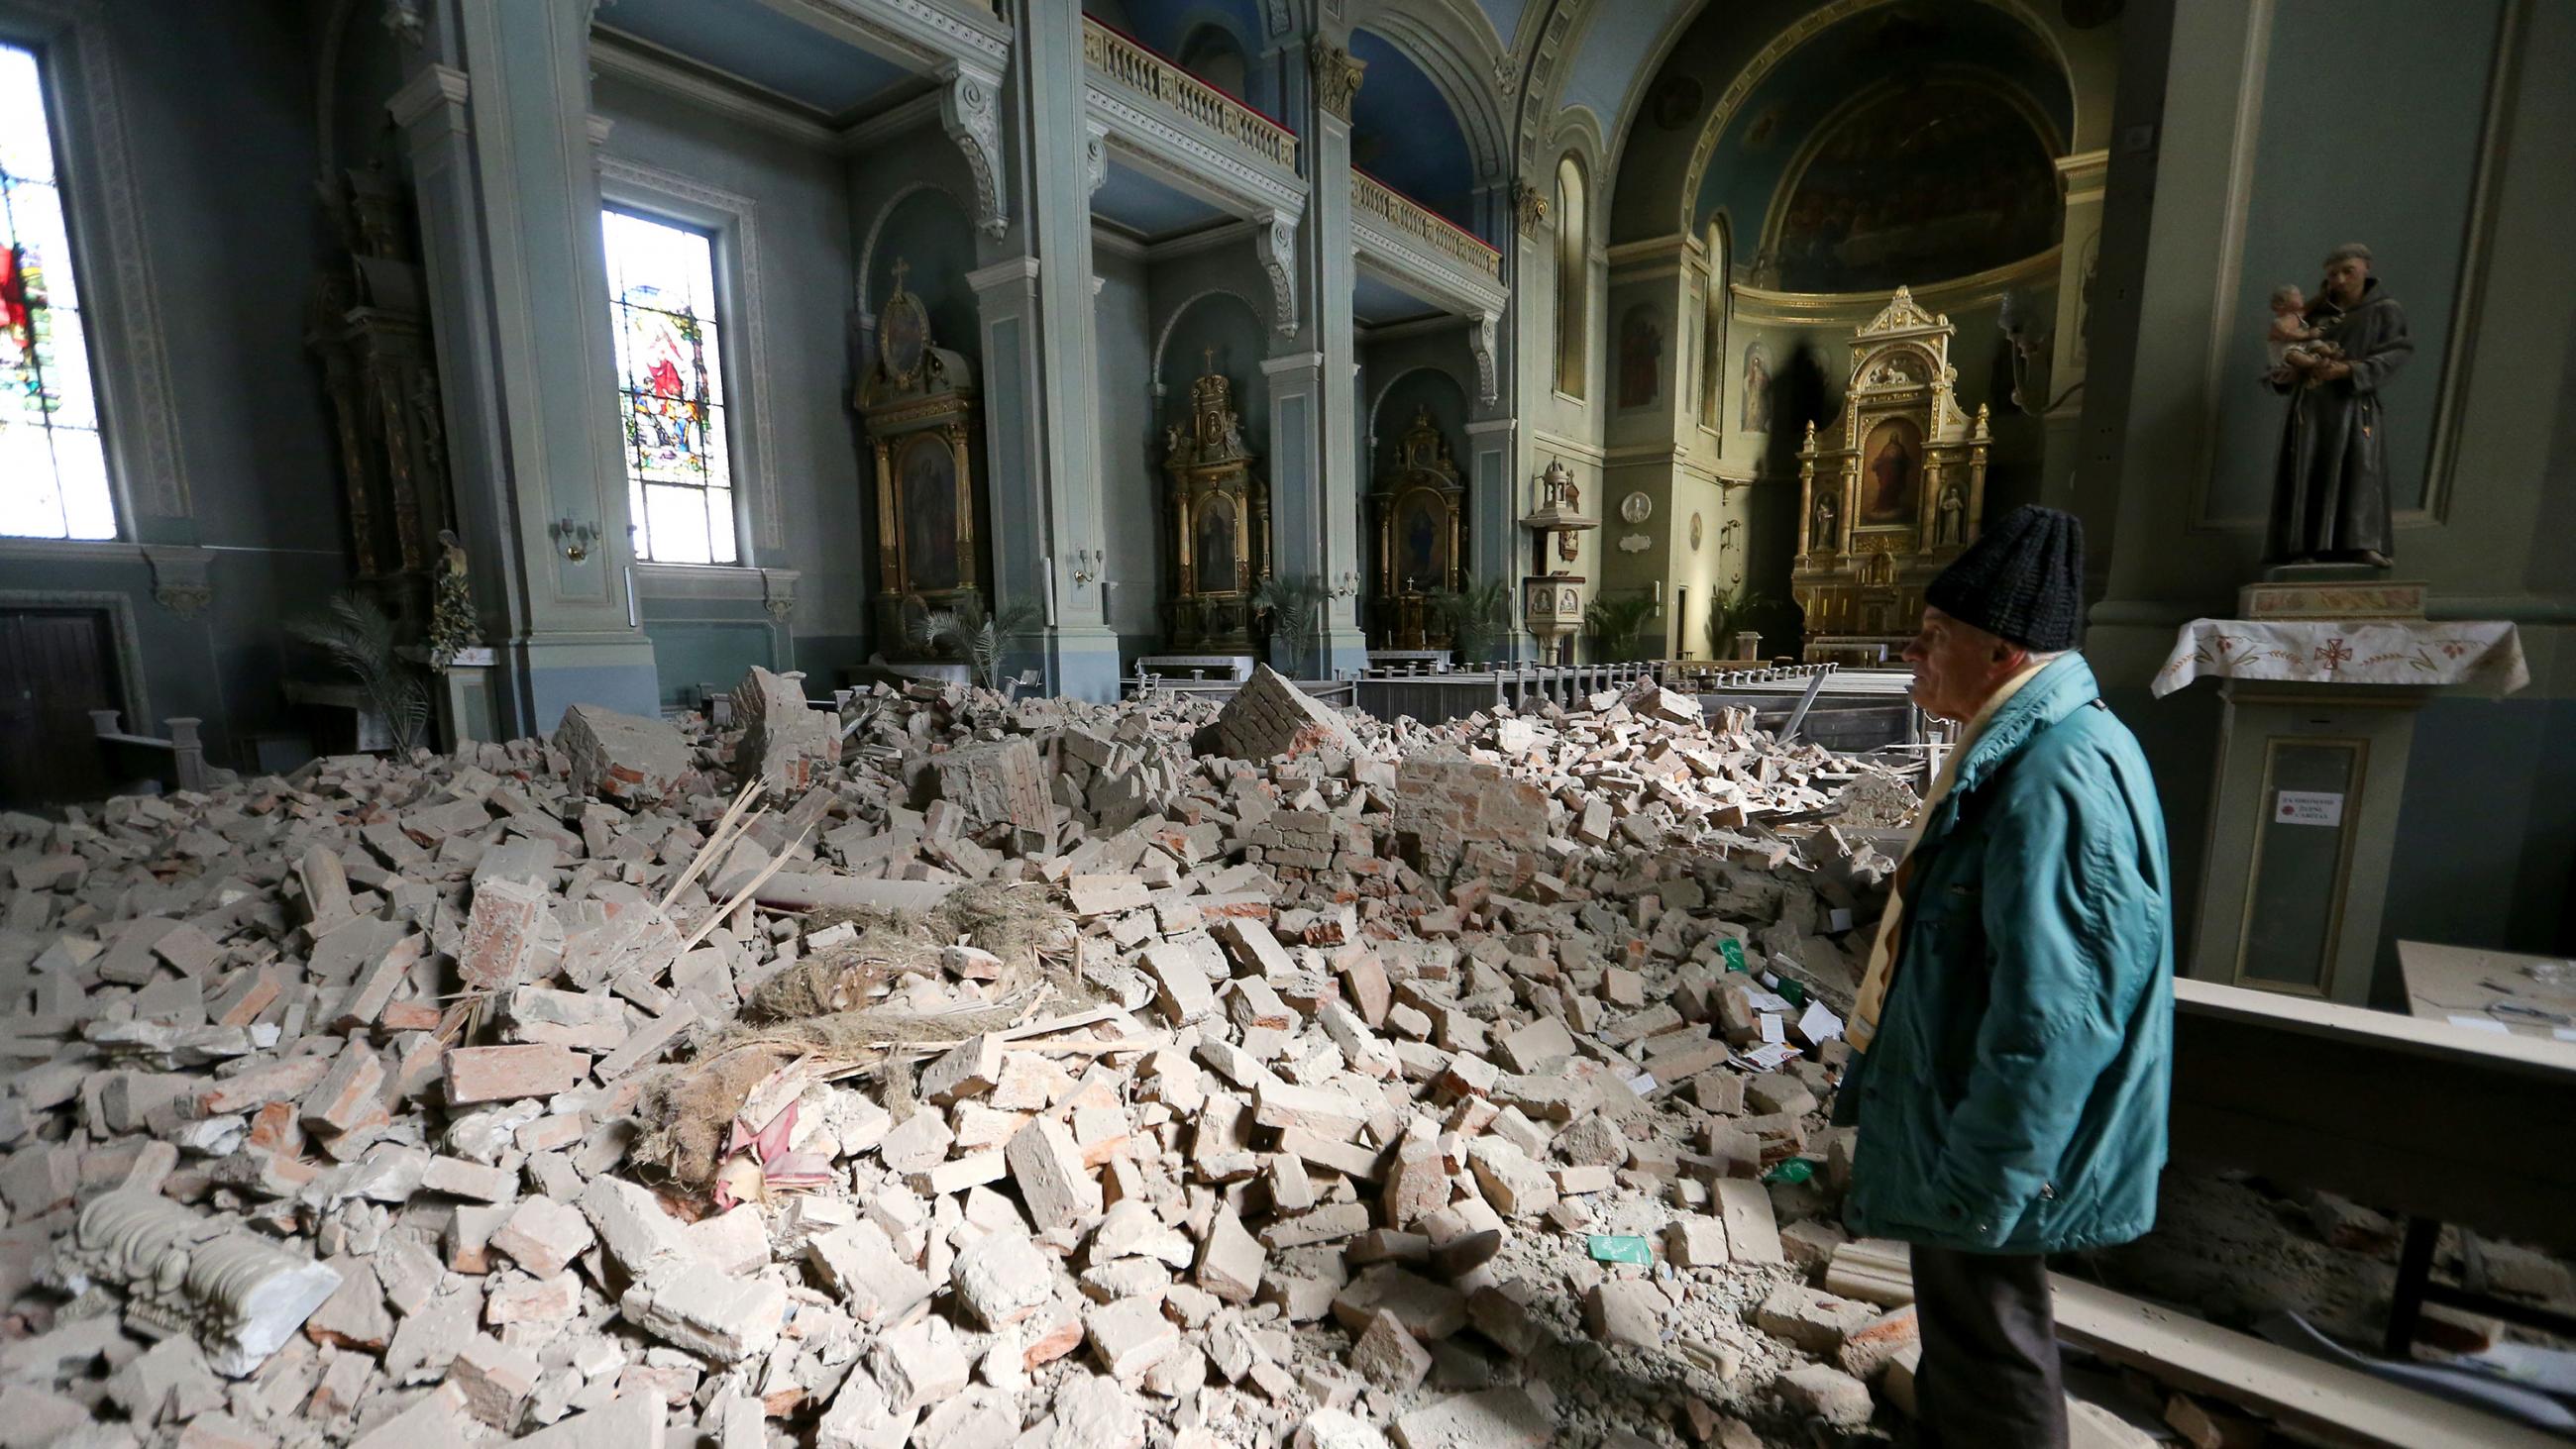
M1162 430L1170 486L1172 649L1252 651L1252 595L1270 577L1270 484L1252 468L1234 383L1208 371L1190 383L1190 422Z

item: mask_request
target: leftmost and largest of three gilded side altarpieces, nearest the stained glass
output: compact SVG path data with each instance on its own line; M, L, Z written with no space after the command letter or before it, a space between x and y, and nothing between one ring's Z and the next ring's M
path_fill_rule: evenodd
M858 412L876 456L876 636L889 659L922 654L925 613L981 607L976 538L984 517L974 466L974 371L930 337L922 299L894 293L876 327L876 363Z

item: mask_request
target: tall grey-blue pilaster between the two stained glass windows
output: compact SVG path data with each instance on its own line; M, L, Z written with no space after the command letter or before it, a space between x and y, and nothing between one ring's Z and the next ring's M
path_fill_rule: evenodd
M500 723L659 708L631 602L582 5L456 0L389 111L412 147L451 474ZM497 582L497 589L492 587Z

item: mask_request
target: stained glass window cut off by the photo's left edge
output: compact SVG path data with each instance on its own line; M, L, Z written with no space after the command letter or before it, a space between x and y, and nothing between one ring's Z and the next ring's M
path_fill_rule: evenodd
M116 538L36 54L0 44L0 533Z

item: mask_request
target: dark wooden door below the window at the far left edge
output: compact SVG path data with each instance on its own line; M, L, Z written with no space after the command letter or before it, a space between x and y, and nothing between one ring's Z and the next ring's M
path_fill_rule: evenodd
M0 803L106 795L90 710L121 708L106 610L0 610Z

